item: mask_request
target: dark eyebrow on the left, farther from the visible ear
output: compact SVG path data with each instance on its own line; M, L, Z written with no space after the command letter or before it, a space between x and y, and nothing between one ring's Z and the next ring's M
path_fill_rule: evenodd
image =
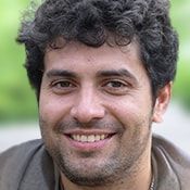
M77 78L77 74L71 71L66 71L66 69L51 69L49 72L47 72L47 77L51 78L51 77L71 77L71 78Z

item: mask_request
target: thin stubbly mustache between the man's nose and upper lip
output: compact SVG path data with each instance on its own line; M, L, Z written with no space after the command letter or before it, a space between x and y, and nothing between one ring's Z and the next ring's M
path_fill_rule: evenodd
M73 129L107 129L114 132L122 132L124 127L118 122L91 121L89 123L80 123L75 119L62 121L53 127L53 131L56 134L64 134L65 131Z

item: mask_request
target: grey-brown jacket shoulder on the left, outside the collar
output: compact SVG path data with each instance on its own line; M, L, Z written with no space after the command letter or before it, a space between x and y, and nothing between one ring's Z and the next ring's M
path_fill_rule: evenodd
M30 165L39 169L39 163L45 155L48 156L41 140L28 141L2 152L0 154L0 189L17 189Z

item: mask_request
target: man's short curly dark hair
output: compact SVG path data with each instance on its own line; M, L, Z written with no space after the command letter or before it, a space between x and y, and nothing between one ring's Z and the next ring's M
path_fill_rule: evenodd
M136 39L156 98L176 75L178 37L168 10L167 0L46 0L33 18L23 20L16 39L25 45L25 67L37 97L45 50L61 48L56 41L62 38L91 47L127 46Z

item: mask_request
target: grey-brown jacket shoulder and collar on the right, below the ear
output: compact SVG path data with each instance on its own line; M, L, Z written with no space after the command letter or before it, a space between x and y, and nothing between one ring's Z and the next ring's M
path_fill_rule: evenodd
M190 156L181 149L161 136L153 136L152 154L157 165L159 175L187 190L190 187ZM160 176L160 177L161 177ZM163 180L163 179L162 179Z

